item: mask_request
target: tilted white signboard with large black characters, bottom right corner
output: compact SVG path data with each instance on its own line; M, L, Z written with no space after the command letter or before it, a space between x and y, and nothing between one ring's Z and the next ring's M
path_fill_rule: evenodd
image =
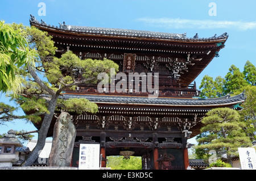
M256 153L254 148L238 148L242 170L256 170Z

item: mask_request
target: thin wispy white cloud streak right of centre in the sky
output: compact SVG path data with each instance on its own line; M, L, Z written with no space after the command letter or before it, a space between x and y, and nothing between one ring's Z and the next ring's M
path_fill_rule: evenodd
M233 28L238 31L256 29L256 22L242 21L216 21L216 20L192 20L180 18L138 18L137 21L150 24L151 26L160 26L165 28L196 28L196 29L215 29L215 28Z

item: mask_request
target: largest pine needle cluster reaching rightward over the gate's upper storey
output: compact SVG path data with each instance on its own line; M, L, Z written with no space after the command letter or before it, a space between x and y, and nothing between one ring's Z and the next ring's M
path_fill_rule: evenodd
M52 61L44 62L43 65L49 82L53 85L60 84L64 87L71 85L69 87L73 86L72 89L75 89L75 83L79 81L77 79L79 73L81 73L84 83L95 84L98 82L98 74L110 74L110 68L118 71L118 65L111 60L105 59L102 61L90 58L80 60L70 50L60 58L54 57Z

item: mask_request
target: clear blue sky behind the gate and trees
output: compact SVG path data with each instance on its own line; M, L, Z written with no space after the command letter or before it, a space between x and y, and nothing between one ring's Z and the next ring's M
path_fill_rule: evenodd
M44 3L45 9L40 2ZM209 11L216 14L211 16ZM0 20L6 23L29 26L30 14L54 26L65 22L74 26L187 32L187 37L196 33L199 37L212 37L227 32L226 47L220 51L220 57L214 58L195 79L197 88L205 74L213 78L225 77L232 64L242 71L247 60L256 65L255 0L0 0ZM7 101L4 95L0 99ZM31 124L17 124L0 125L0 133L20 127L34 130Z

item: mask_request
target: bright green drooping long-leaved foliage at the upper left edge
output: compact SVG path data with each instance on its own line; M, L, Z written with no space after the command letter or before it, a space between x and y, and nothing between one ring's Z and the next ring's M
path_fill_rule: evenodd
M38 53L30 49L26 32L0 21L0 91L20 92L21 81L18 69L34 66Z

